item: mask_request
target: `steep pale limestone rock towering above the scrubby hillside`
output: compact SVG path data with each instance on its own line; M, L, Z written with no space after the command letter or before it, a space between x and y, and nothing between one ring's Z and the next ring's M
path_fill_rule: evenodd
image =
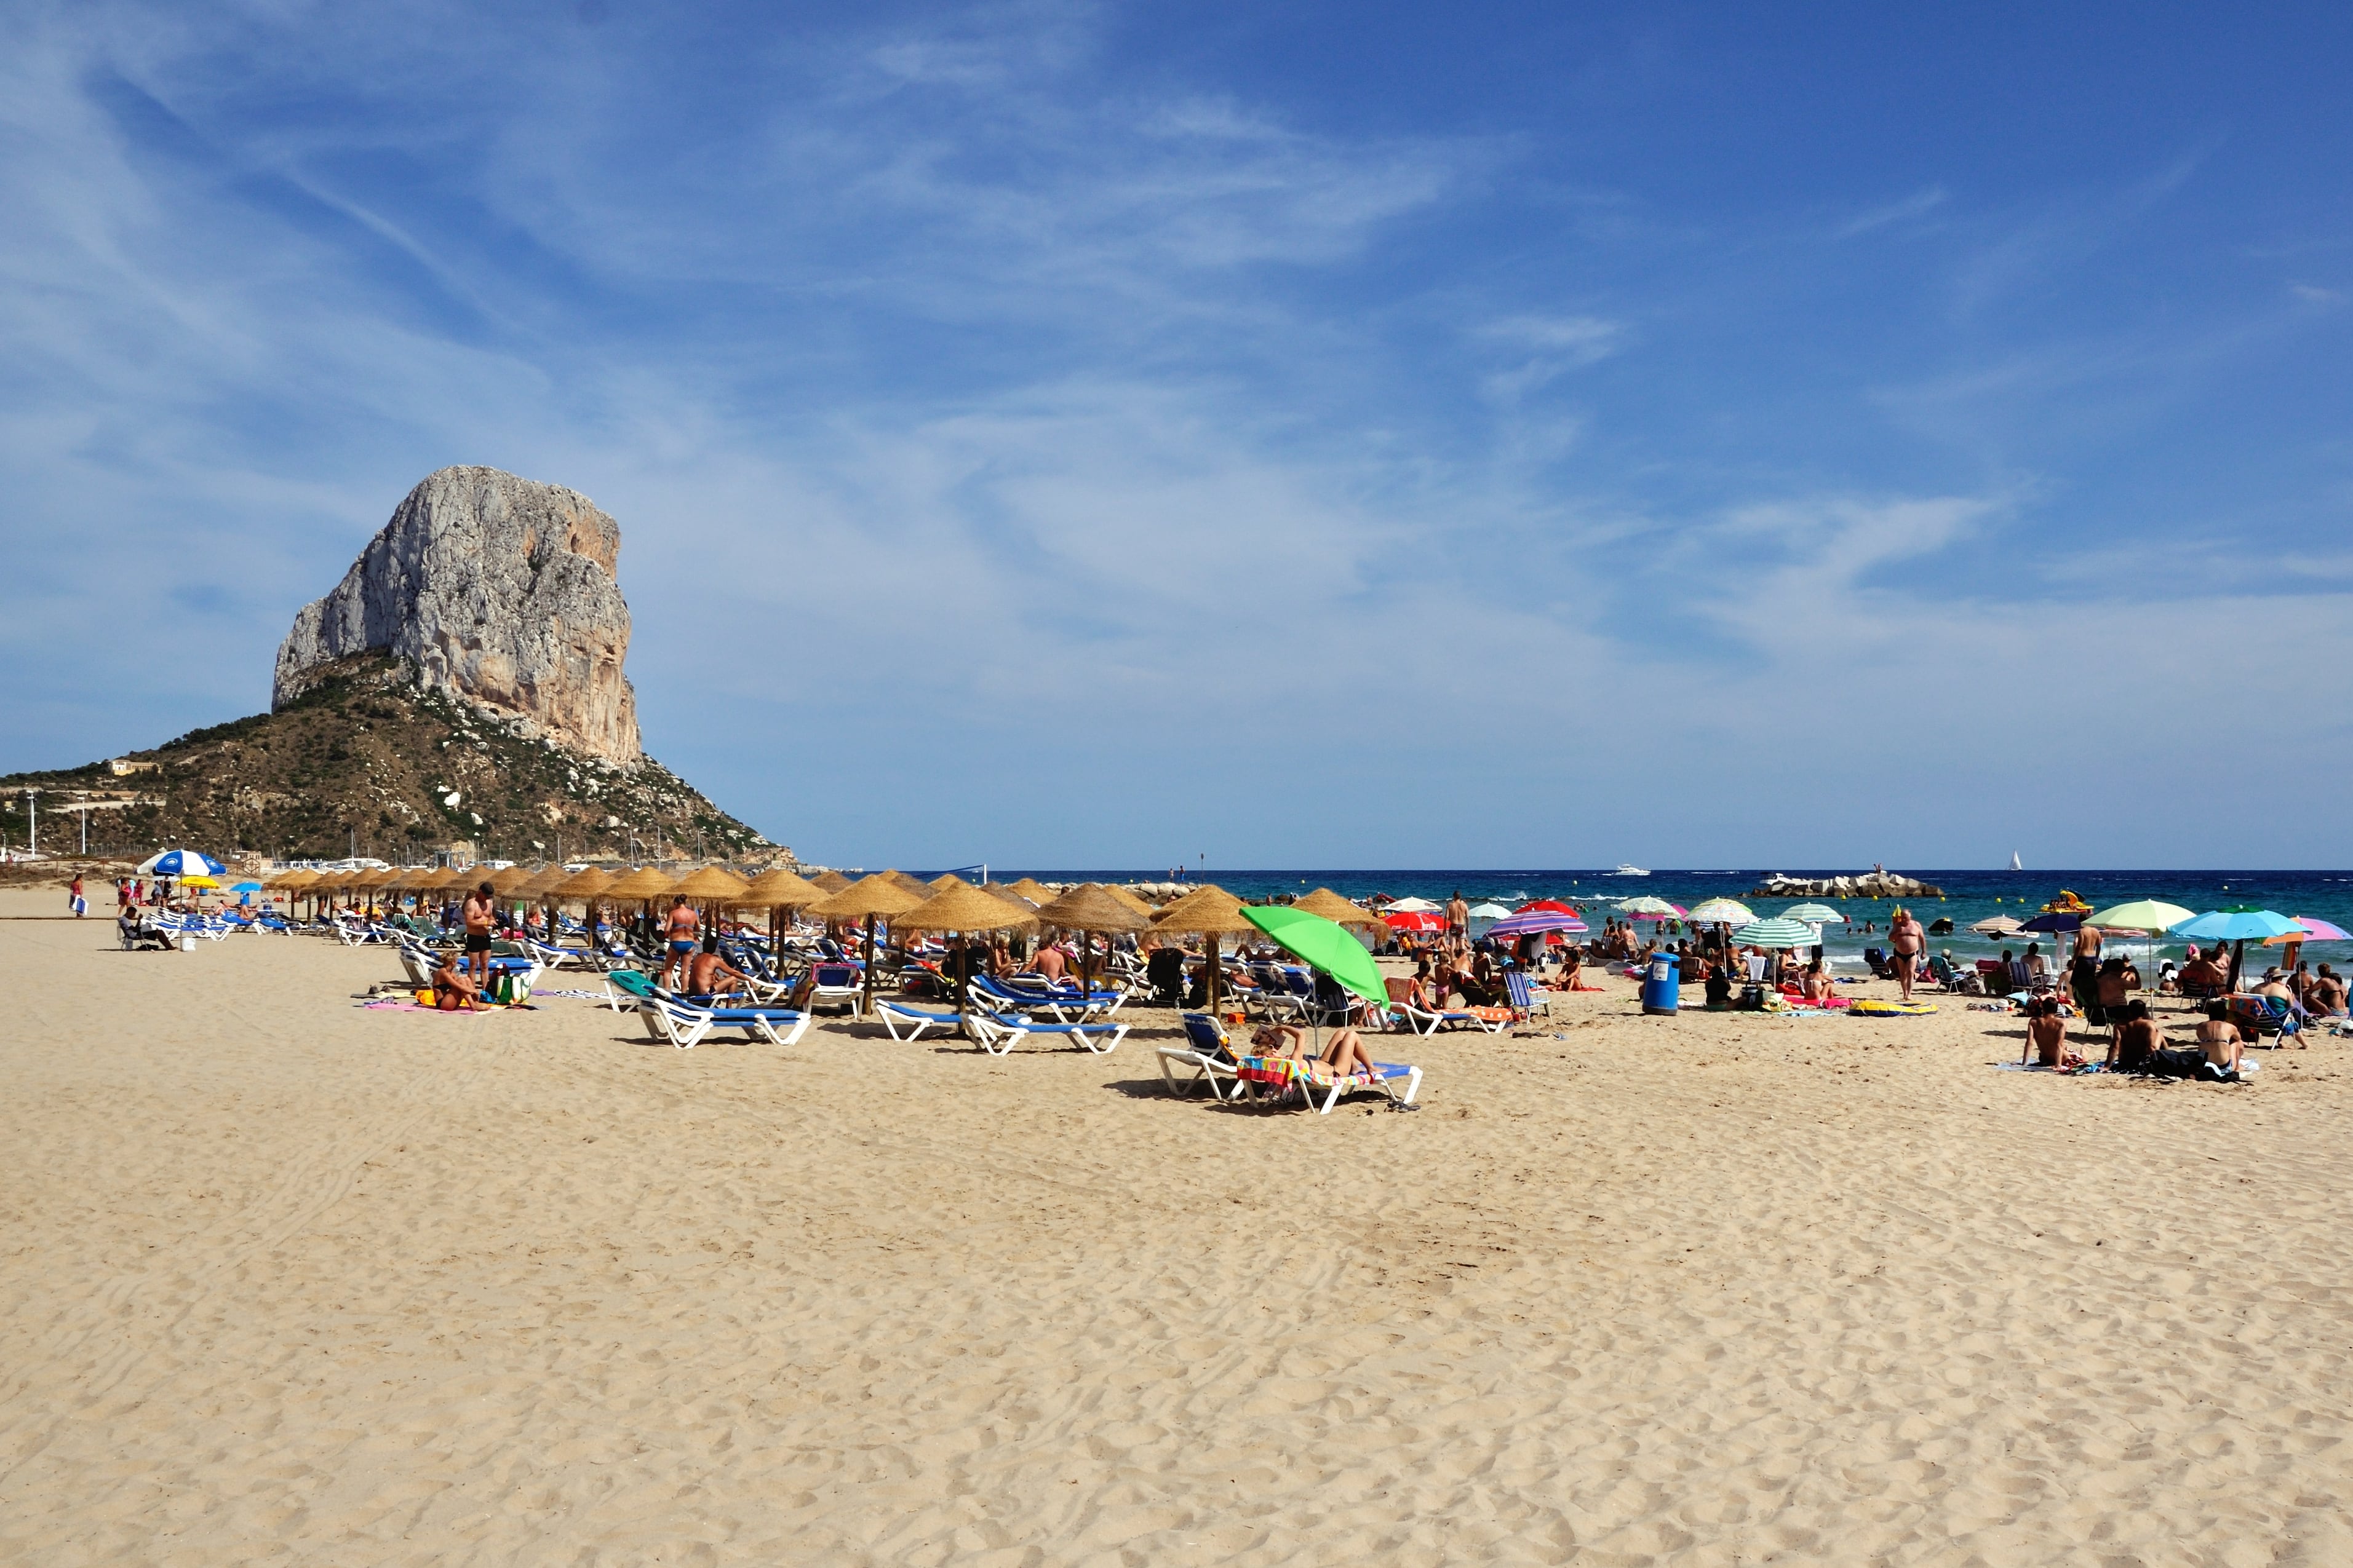
M388 651L426 689L520 717L565 750L633 769L638 696L621 675L621 524L588 496L496 468L428 475L344 581L294 616L271 708L313 672Z

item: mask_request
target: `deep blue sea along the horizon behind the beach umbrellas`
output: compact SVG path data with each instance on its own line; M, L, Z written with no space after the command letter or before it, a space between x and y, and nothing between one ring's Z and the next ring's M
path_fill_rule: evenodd
M1786 872L1791 877L1840 877L1854 875L1852 867L1842 870L1805 870L1798 865L1777 865L1769 870ZM1160 882L1167 877L1167 867L1155 870L1012 870L991 867L991 875L1000 882L1014 882L1019 877L1035 877L1040 882ZM1327 886L1346 898L1362 898L1367 893L1388 893L1393 898L1417 896L1445 903L1457 889L1471 903L1494 900L1501 905L1518 905L1529 898L1560 898L1565 903L1584 910L1586 919L1600 929L1600 917L1612 910L1612 900L1635 898L1649 893L1654 898L1666 898L1668 903L1680 903L1685 907L1699 903L1701 898L1739 898L1758 914L1779 914L1795 900L1784 898L1748 898L1767 870L1654 870L1649 877L1614 877L1602 870L1212 870L1205 875L1193 875L1193 882L1214 882L1228 893L1240 898L1268 898L1273 893L1306 893L1308 889ZM1904 867L1906 877L1918 877L1944 889L1944 898L1913 900L1915 912L1922 922L1934 922L1939 914L1951 917L1953 936L1939 936L1929 945L1932 950L1951 947L1953 957L1993 957L2002 950L2002 943L1986 943L1969 931L1972 922L1986 919L1988 914L2009 914L2012 919L2028 919L2047 900L2059 896L2059 889L2071 889L2080 898L2089 900L2092 907L2104 910L2108 905L2129 903L2134 898L2162 898L2165 903L2179 903L2186 910L2221 910L2231 905L2254 905L2261 910L2278 910L2280 914L2318 914L2320 919L2337 922L2353 931L2353 870L2337 872L1969 872L1969 870L1911 870ZM1880 933L1887 931L1887 912L1894 907L1889 900L1849 898L1831 900L1847 910L1854 919L1852 933L1831 926L1824 931L1828 938L1828 950L1833 957L1857 959L1864 947L1885 945ZM1864 936L1864 922L1873 924L1873 933ZM2026 940L2038 940L2028 936ZM2045 952L2049 952L2052 938L2040 938ZM2059 938L2064 945L2066 938ZM2026 950L2024 940L2007 943L2019 952ZM2148 954L2151 947L2162 957L2181 957L2181 943L2129 943L2134 952ZM2249 961L2252 961L2249 950ZM2304 950L2306 959L2329 959L2339 969L2353 964L2353 945L2344 943L2320 943Z

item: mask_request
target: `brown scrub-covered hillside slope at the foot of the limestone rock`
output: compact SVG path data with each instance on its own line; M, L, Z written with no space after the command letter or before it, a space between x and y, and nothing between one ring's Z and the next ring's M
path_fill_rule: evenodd
M624 771L572 755L520 724L416 686L386 654L318 672L280 712L191 731L108 762L0 778L12 792L7 839L26 842L24 790L40 790L42 846L78 844L73 806L92 804L92 853L151 853L188 844L216 856L379 856L393 863L471 846L480 858L562 853L706 853L736 863L791 860L751 825L647 757ZM141 766L153 764L153 766ZM101 804L115 802L115 804Z

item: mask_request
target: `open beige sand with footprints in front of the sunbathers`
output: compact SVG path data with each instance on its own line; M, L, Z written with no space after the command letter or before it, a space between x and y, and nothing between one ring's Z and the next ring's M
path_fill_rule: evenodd
M0 1561L2353 1563L2344 1046L2007 1018L1115 1056L360 1011L0 896ZM40 919L33 919L40 917Z

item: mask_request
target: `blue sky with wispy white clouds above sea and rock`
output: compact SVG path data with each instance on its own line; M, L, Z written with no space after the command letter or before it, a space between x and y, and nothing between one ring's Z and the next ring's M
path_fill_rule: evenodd
M200 9L0 14L5 766L489 463L819 860L2346 860L2344 7Z

